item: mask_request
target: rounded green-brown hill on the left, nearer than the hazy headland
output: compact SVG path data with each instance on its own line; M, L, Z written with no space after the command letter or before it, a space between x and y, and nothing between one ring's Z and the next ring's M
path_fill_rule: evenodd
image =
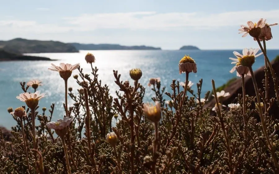
M71 44L57 41L39 41L15 38L0 41L0 49L11 53L49 53L49 52L78 52Z

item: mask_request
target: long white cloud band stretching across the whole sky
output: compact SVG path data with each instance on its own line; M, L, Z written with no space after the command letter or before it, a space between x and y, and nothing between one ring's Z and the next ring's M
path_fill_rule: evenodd
M221 29L222 27L246 24L248 20L257 22L266 18L268 22L279 22L278 10L270 11L231 11L206 14L195 13L157 13L154 11L129 13L82 14L76 17L62 18L59 25L38 23L33 20L0 20L0 32L27 33L63 33L69 31L94 31L95 29L131 29L131 30L169 30L176 29ZM40 21L43 22L43 21Z

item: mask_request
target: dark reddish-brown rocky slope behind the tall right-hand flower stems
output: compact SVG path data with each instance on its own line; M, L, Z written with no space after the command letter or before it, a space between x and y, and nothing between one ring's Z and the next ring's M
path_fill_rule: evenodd
M279 56L277 56L277 58L275 60L273 60L271 62L272 67L277 75L277 78L279 79L279 60L278 60ZM254 71L255 74L255 78L257 81L257 85L258 88L261 89L262 91L264 91L263 88L263 79L264 77L264 66L257 69L256 71ZM230 83L229 86L224 88L225 92L229 92L231 95L226 97L223 104L228 106L228 104L230 103L236 103L236 98L238 97L238 94L242 94L242 83L241 83L241 78L238 78L237 80L235 80L234 82ZM245 78L245 91L246 91L246 95L249 96L256 96L255 95L255 90L254 90L254 86L253 86L253 82L252 82L252 78L250 76L246 76ZM275 91L274 91L274 83L273 80L271 78L271 75L269 77L269 98L270 97L274 97L275 98ZM214 98L211 99L209 102L206 103L205 107L214 107L215 106L215 100ZM274 104L272 106L272 108L269 111L269 114L273 115L275 118L279 119L279 107L277 104Z

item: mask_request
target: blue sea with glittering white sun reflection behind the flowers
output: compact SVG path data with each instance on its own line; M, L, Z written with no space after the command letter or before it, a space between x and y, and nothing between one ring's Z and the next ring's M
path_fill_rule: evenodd
M42 107L50 108L51 103L55 103L54 120L63 117L63 102L64 102L64 80L60 78L59 73L48 70L51 63L59 65L59 63L76 64L80 63L84 73L90 74L90 64L86 64L84 59L87 52L93 53L96 58L94 66L99 71L99 78L102 83L106 83L110 88L112 96L118 90L114 83L113 70L118 70L123 81L129 80L129 70L132 68L140 68L142 70L142 78L140 83L146 87L145 101L150 100L154 95L150 87L147 86L149 78L161 78L162 86L166 86L166 91L170 91L169 85L173 79L185 81L185 74L179 74L178 62L185 55L191 56L197 63L197 73L190 73L189 80L193 83L203 79L202 95L207 91L211 91L211 79L215 80L216 86L223 85L229 79L236 77L236 72L231 74L229 71L233 67L229 57L235 57L232 52L241 50L193 50L193 51L166 51L166 50L150 50L150 51L80 51L79 53L40 53L26 54L33 56L44 56L56 61L8 61L0 62L0 125L11 127L15 125L15 121L7 112L8 107L13 109L25 105L24 102L16 99L20 93L23 93L20 82L28 82L32 79L42 81L43 86L38 88L41 93L46 93L47 97L39 101L39 111ZM279 55L279 50L268 50L270 60ZM263 66L263 56L256 58L253 69L256 70ZM74 70L73 74L78 74L78 70ZM69 79L68 87L73 88L76 92L80 87L72 77ZM192 87L194 90L197 87ZM29 88L29 92L33 92ZM166 100L169 98L166 97ZM73 101L69 97L69 105ZM47 109L47 110L48 110ZM41 113L41 112L40 112ZM49 114L47 112L47 114Z

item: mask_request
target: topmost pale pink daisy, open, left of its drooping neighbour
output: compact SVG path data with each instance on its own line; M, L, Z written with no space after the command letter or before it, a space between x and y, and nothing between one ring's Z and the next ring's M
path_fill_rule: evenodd
M241 29L238 29L238 31L240 31L240 33L244 33L242 35L242 37L247 36L247 34L250 34L250 36L258 38L260 33L261 33L261 29L265 26L266 24L266 20L263 20L263 18L261 18L257 23L253 23L252 21L248 21L247 25L241 25Z

